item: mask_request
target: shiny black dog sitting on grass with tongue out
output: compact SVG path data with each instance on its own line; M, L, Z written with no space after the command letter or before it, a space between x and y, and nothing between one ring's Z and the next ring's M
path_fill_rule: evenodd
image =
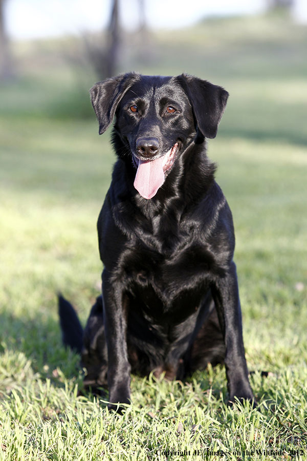
M214 138L228 93L190 75L120 75L91 89L102 134L116 117L118 160L99 219L102 297L81 326L60 298L65 344L85 385L130 401L130 372L183 379L225 362L229 400L253 401L233 262L232 215L214 181ZM113 405L112 405L113 404Z

